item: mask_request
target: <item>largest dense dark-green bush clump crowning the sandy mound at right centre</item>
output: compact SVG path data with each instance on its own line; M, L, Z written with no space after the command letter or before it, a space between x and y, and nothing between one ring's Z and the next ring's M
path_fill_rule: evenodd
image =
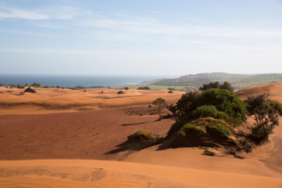
M233 92L225 89L209 89L202 93L199 91L187 92L181 96L176 105L171 104L168 109L176 120L193 118L193 114L199 115L200 111L211 113L215 118L215 109L210 106L217 109L219 119L225 119L235 125L245 120L245 103ZM197 107L199 107L198 110L196 110ZM194 110L196 111L192 113Z

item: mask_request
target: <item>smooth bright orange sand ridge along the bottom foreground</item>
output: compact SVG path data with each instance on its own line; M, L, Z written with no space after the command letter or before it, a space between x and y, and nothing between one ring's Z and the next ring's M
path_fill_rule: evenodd
M256 187L281 178L96 160L1 161L0 187ZM9 166L9 167L5 167ZM220 181L218 180L219 177Z

